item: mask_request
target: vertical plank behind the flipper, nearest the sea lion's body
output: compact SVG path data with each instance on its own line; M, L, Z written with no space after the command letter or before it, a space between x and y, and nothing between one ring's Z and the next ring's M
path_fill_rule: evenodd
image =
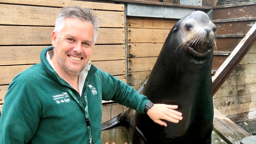
M111 105L111 118L123 112L123 106L119 104ZM128 143L127 130L124 126L119 126L111 129L111 143L124 144Z

